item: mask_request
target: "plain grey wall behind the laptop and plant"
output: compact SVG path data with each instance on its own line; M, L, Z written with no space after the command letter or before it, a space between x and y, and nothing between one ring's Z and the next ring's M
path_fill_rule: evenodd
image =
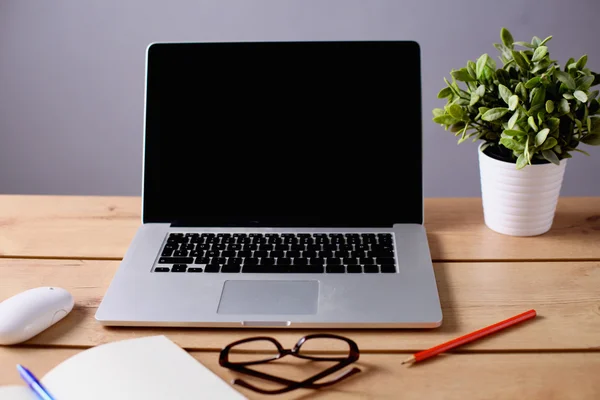
M149 42L413 39L425 194L479 196L476 145L431 122L442 78L495 55L502 26L516 40L553 35L554 58L589 53L598 71L599 17L598 0L0 0L0 192L140 194ZM600 195L600 148L589 150L569 160L564 195Z

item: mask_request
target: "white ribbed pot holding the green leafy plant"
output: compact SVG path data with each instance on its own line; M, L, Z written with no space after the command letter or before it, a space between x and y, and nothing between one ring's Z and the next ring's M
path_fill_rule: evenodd
M483 214L488 228L512 236L536 236L552 227L567 160L526 165L487 156L479 146Z

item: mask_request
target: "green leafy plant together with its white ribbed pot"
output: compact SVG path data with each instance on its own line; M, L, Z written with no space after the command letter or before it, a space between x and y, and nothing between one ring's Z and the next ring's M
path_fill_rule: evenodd
M533 236L552 226L567 159L600 145L600 75L587 55L560 66L547 43L515 42L502 28L502 66L483 54L453 69L433 121L478 147L486 225L507 235Z

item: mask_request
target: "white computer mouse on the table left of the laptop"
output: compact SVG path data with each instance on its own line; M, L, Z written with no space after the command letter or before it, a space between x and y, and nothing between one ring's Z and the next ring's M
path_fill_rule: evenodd
M58 287L39 287L0 303L0 345L17 344L48 329L71 312L73 296Z

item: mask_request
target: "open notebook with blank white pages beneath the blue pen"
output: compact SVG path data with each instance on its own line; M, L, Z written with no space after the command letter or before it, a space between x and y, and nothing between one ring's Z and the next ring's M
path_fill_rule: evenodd
M245 399L162 335L93 347L38 378L56 400ZM0 387L0 399L37 398L23 384Z

